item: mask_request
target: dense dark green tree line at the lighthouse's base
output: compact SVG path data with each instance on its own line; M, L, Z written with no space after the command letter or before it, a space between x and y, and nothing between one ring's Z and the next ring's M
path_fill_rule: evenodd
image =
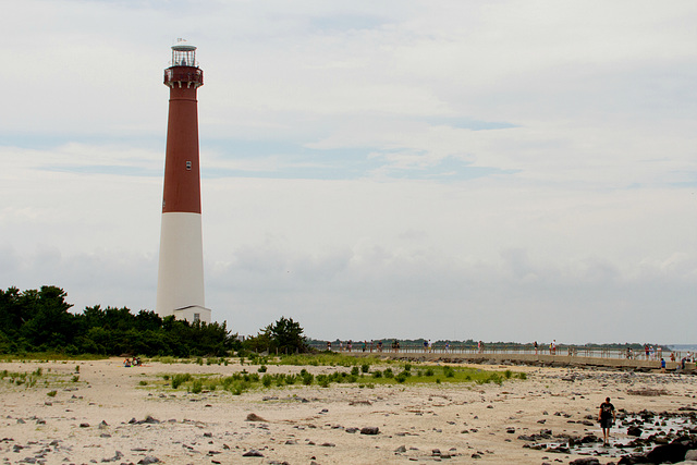
M0 290L0 353L59 352L68 355L221 356L237 343L227 323L189 323L150 310L86 307L69 311L57 286Z

